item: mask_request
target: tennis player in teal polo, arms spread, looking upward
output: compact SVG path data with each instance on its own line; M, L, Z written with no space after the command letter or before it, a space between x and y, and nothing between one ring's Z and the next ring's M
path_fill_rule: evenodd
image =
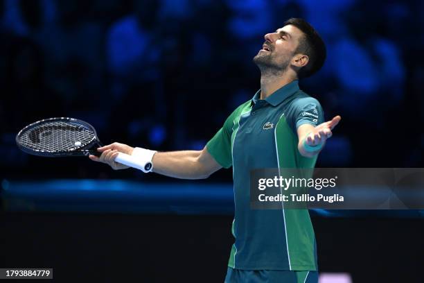
M324 121L317 99L299 89L298 80L318 71L326 47L303 19L288 19L265 35L254 62L260 89L234 110L202 151L157 152L109 144L98 148L113 169L118 152L152 161L153 171L183 179L208 178L233 166L235 238L226 283L318 282L315 234L308 209L250 209L249 172L264 168L313 168L317 155L340 121Z

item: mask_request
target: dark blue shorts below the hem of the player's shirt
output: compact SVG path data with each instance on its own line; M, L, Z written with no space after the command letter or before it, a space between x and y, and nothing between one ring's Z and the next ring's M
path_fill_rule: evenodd
M245 271L229 267L224 283L318 283L318 272Z

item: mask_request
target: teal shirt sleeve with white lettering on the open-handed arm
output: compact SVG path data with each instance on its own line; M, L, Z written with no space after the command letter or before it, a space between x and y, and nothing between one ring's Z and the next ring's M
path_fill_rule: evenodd
M314 127L324 123L324 110L317 99L307 96L294 101L293 105L292 128L297 132L299 126L308 123Z

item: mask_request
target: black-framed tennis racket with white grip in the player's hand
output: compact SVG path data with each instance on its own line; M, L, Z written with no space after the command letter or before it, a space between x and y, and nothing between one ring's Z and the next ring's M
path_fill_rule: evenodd
M93 126L67 117L31 123L19 131L16 143L21 151L42 157L99 156L101 153L96 148L102 146ZM152 170L152 162L140 162L125 153L118 153L115 162L145 173Z

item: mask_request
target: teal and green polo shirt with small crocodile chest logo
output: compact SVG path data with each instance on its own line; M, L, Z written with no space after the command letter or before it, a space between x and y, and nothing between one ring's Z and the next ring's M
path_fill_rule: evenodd
M317 126L324 113L317 99L294 80L265 100L260 90L234 110L206 144L224 168L233 166L235 215L228 266L245 270L317 271L315 234L308 209L251 209L250 171L313 168L317 157L297 149L297 128Z

